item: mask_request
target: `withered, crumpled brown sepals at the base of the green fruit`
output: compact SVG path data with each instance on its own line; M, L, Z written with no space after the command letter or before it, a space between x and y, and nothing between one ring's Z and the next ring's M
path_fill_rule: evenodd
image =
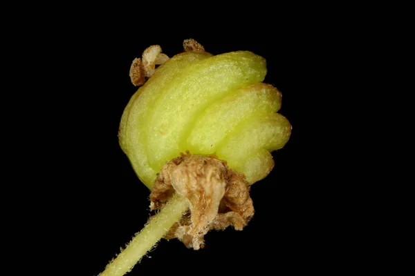
M163 166L150 195L152 210L178 193L190 203L190 213L165 238L178 238L198 250L209 230L234 226L242 230L254 215L248 182L216 156L181 154Z

